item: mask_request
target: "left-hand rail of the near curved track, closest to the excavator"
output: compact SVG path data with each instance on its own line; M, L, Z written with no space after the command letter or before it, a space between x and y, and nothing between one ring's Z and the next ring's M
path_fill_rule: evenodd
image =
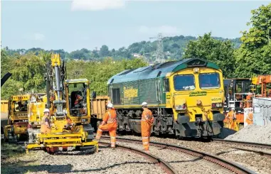
M106 142L99 142L100 144L105 144L105 145L108 145L110 146L111 143L106 143ZM137 153L141 156L145 156L147 158L149 158L152 162L158 164L158 165L161 165L161 167L166 170L167 173L170 173L170 174L177 174L176 170L169 164L167 163L166 161L162 160L161 158L158 158L156 156L153 156L152 154L149 154L149 153L146 153L144 151L140 151L136 148L131 148L131 147L127 147L127 146L120 146L120 145L117 145L116 148L121 148L125 151L132 151L133 153Z

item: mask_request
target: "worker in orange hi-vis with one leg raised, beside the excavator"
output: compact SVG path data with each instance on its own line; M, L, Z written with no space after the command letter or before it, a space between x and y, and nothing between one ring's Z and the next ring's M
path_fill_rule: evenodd
M117 112L112 103L107 104L107 112L102 118L102 124L97 129L95 141L100 141L102 131L109 131L111 147L116 147L116 132L117 132Z

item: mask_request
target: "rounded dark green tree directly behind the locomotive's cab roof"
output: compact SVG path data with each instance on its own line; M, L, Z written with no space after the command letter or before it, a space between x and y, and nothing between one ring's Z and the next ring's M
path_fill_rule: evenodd
M230 40L222 41L211 37L211 33L190 40L186 46L184 58L201 58L216 63L225 77L234 77L235 58Z

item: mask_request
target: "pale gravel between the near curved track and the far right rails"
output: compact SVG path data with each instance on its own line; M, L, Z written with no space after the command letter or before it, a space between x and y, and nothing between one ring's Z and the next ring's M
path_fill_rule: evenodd
M118 136L122 138L133 138L141 140L140 136ZM215 156L225 158L228 161L233 161L240 165L243 165L245 168L254 170L256 173L260 174L270 174L271 172L271 159L266 156L260 156L256 153L251 153L248 151L240 151L233 148L233 145L219 142L203 143L198 141L181 141L174 138L157 138L151 137L151 141L157 141L161 143L169 143L177 146L184 146L187 148L194 149L196 151L202 151L205 153L210 153ZM120 142L117 142L120 143ZM247 148L248 146L240 146L239 148ZM154 148L151 146L151 149ZM271 152L270 149L259 149L251 148L257 151L267 151ZM155 155L155 153L154 153Z

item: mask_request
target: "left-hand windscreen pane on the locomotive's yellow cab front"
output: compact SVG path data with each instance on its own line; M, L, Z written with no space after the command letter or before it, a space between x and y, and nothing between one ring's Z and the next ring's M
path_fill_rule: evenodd
M174 89L176 91L193 90L195 89L194 75L175 75Z

